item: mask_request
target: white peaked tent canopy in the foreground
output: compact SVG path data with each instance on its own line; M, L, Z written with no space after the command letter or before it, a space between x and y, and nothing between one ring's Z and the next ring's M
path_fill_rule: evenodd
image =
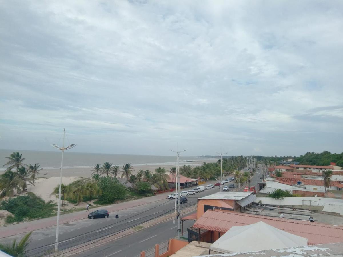
M220 253L237 253L306 245L307 238L259 221L246 226L232 227L211 244L210 249Z

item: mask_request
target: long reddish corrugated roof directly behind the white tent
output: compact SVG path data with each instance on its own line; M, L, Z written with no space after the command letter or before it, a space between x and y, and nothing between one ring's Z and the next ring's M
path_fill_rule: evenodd
M275 228L306 237L308 245L343 242L343 227L317 222L277 219L247 213L206 211L193 225L195 228L226 232L232 226L243 226L263 221Z

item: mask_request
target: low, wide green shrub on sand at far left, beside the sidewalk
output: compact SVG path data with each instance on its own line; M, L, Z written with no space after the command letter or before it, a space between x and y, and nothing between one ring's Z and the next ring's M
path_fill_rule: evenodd
M13 223L23 221L24 219L33 220L54 216L57 209L56 206L52 201L45 203L42 198L30 192L25 196L1 201L0 209L7 210L13 214L14 217L7 216L6 218L6 222Z

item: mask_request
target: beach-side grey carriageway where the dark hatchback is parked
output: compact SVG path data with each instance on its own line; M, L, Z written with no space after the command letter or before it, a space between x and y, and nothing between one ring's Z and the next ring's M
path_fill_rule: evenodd
M216 187L211 190L205 190L205 192L196 194L195 196L189 196L187 197L188 203L182 205L182 208L196 204L199 197L210 195L218 191L219 190ZM146 221L174 212L174 206L175 200L165 198L153 203L110 213L110 216L107 219L90 220L85 218L62 224L60 226L59 250L133 228ZM106 209L106 207L103 208ZM119 219L114 217L116 214L119 215ZM87 213L85 212L85 217L86 215ZM55 234L56 227L34 231L32 233L32 243L28 246L28 255L41 256L46 254L49 250L51 251L54 249ZM12 242L14 238L21 237L22 235L1 238L1 242Z

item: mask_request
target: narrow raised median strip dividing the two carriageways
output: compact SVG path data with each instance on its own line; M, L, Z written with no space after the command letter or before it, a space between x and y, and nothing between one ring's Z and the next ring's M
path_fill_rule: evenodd
M194 209L196 209L196 206L195 206L195 208L194 208L194 207L193 207L193 208L192 208L192 207L187 207L187 210L184 210L184 214L186 214L186 213L188 213L188 212L192 212L192 211L194 211ZM65 255L65 254L63 254L63 253L60 253L60 254L58 254L58 256L67 257L67 256L73 256L73 255L75 255L75 254L83 253L83 252L88 251L88 250L90 250L90 249L93 249L93 248L96 248L96 247L99 247L99 246L108 244L108 243L110 243L110 242L116 241L116 240L118 240L118 239L120 239L120 238L122 238L122 237L129 236L129 235L131 235L131 234L134 234L134 233L136 233L136 232L142 231L142 230L144 230L144 229L153 227L153 226L155 226L155 225L157 225L157 224L160 224L160 223L162 223L162 222L171 220L171 219L173 219L174 217L175 217L175 213L170 213L170 214L168 214L168 215L165 215L165 216L162 216L162 217L158 218L158 219L157 219L157 222L153 222L153 220L152 220L152 221L147 221L147 222L144 222L143 224L140 224L140 225L144 226L144 224L152 223L152 224L150 224L150 225L147 225L146 227L143 227L143 228L140 229L140 230L137 230L137 231L136 231L136 230L133 230L133 228L134 228L134 227L133 227L133 228L128 229L128 233L126 233L126 234L120 235L121 233L124 233L124 232L125 232L125 231L123 231L123 232L119 232L119 233L117 233L117 234L111 235L111 236L109 236L109 237L107 237L107 238L103 238L102 240L106 240L105 242L100 242L100 243L97 243L97 242L93 242L93 243L92 243L92 241L86 242L86 243L84 243L82 246L77 246L77 247L76 247L76 249L78 249L78 248L85 248L85 247L86 247L86 249L82 249L82 250L79 250L79 251L77 251L77 252L73 252L73 250L70 250L71 253L68 253L68 254L66 253L67 255ZM135 226L135 227L137 227L137 226ZM133 230L133 231L130 231L130 230ZM113 238L111 238L111 237L113 237ZM102 241L102 240L101 240L101 241ZM95 240L93 240L93 241L97 241L97 239L95 239ZM95 244L95 245L90 246L91 244ZM75 249L75 250L76 250L76 249ZM55 254L49 254L49 255L45 255L45 256L47 256L47 257L52 257L52 256L55 256Z

